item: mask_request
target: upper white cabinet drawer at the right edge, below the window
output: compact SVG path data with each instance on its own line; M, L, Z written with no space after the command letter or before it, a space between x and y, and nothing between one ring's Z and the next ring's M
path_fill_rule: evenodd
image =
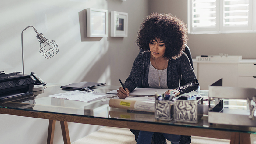
M256 76L256 64L238 64L239 76Z

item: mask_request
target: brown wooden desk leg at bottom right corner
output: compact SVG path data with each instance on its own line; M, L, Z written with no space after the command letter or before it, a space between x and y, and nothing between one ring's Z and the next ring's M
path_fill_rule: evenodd
M233 132L230 144L251 144L250 133Z

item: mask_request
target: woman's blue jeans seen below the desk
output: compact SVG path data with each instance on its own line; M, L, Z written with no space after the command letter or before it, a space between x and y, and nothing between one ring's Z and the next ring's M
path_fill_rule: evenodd
M154 132L140 131L137 144L151 144L151 139ZM181 140L181 135L165 134L163 133L165 139L169 140L172 144L179 144Z

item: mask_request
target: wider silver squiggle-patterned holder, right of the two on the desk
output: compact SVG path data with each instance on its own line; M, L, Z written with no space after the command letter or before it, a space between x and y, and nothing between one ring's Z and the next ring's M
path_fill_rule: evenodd
M187 100L187 97L179 97L174 101L174 121L197 123L201 117L201 112L198 112L198 104L202 100L202 97L197 97L196 100Z

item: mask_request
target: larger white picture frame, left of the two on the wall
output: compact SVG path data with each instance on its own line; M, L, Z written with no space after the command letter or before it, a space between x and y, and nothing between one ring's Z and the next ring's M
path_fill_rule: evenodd
M108 37L108 10L86 9L87 37Z

